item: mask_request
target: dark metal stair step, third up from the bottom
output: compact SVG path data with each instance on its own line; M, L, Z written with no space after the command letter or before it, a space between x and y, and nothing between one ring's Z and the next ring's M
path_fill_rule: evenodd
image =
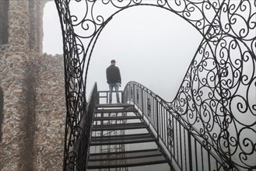
M109 130L128 130L140 129L148 127L144 123L127 123L127 124L99 124L93 125L93 131L109 131Z

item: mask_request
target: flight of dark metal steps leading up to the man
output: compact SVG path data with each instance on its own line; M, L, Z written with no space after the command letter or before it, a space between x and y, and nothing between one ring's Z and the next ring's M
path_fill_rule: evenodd
M97 104L93 117L93 136L90 147L98 148L107 145L126 145L105 152L90 152L87 169L125 168L131 166L146 166L167 163L168 159L160 148L129 150L128 145L135 143L156 142L156 138L149 130L149 126L142 120L138 110L128 103ZM109 134L123 131L123 134ZM157 145L156 145L157 146ZM108 146L110 147L110 146Z

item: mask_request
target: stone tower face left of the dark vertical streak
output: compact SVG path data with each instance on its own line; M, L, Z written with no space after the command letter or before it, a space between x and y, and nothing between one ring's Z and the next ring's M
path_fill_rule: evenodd
M19 3L19 1L17 1ZM29 16L25 12L28 3L16 4L9 2L9 42L0 47L1 49L1 87L4 93L4 110L2 124L2 141L0 152L0 169L17 170L20 168L20 150L23 143L22 122L23 112L23 80L25 75L25 64L28 59L26 54L26 33ZM23 21L23 22L21 22Z

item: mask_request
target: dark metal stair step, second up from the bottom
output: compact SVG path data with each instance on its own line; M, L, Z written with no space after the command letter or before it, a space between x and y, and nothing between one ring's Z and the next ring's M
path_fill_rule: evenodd
M156 141L151 134L124 134L117 136L92 137L90 145L117 145Z

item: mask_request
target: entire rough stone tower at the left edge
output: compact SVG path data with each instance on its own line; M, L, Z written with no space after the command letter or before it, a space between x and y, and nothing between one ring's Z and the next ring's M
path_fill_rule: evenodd
M0 0L0 170L61 170L61 55L42 54L45 1ZM2 96L3 94L3 96Z

